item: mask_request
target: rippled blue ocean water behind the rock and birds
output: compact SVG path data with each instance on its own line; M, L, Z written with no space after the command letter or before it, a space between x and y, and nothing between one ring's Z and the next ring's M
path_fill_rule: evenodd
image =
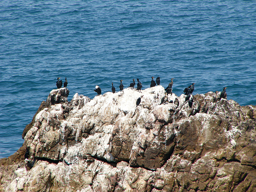
M21 134L57 77L70 101L93 98L151 76L173 92L221 91L256 105L255 1L0 1L0 158L21 147Z

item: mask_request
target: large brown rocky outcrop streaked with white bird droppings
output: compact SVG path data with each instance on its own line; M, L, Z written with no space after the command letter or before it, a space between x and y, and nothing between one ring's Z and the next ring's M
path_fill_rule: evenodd
M70 102L68 92L53 90L23 147L0 160L0 190L255 191L255 106L213 102L213 92L194 95L192 108L174 93L179 107L159 105L162 86Z

